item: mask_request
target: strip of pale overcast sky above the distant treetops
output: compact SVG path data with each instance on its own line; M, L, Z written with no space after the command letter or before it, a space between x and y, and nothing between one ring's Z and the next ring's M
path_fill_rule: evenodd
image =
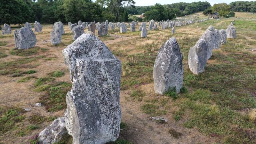
M96 0L93 0L93 1L96 1ZM149 5L155 5L156 3L160 3L160 4L172 4L177 2L191 3L196 1L208 1L211 5L214 5L215 3L223 3L223 2L229 4L235 0L135 0L136 2L135 6L149 6Z

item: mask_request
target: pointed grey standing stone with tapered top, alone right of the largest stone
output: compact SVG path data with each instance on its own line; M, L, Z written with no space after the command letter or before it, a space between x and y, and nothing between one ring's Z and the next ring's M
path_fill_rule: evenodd
M163 95L169 88L176 88L179 93L183 84L182 53L175 38L170 38L160 48L154 68L155 93Z

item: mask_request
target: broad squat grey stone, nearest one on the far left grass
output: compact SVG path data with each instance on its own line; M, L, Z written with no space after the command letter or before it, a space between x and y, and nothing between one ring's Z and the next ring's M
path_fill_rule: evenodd
M37 39L31 28L22 27L14 31L15 48L28 49L36 45Z

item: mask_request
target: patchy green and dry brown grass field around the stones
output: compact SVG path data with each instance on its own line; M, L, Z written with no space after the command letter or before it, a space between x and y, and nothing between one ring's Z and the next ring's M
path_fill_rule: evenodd
M236 13L236 17L176 27L174 35L170 28L148 31L147 38L141 38L139 31L121 34L115 29L99 37L122 61L122 130L113 144L256 143L256 20L247 20L256 15ZM192 74L189 48L210 25L226 29L232 20L237 39L228 39L213 51L204 73ZM64 116L72 84L61 51L73 39L65 26L62 44L51 46L51 29L44 25L43 32L36 33L36 46L22 51L14 49L13 33L0 36L0 144L25 144ZM178 95L161 96L154 93L153 65L170 37L176 37L183 54L184 88ZM38 102L41 107L34 105ZM168 123L153 121L152 116ZM71 143L67 136L59 144Z

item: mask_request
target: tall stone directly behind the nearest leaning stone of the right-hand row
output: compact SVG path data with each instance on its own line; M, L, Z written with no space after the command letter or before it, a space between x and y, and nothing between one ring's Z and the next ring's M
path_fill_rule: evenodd
M207 45L207 60L208 60L212 56L212 51L215 48L215 43L216 43L214 27L209 26L206 32L201 36L200 39L204 39Z

